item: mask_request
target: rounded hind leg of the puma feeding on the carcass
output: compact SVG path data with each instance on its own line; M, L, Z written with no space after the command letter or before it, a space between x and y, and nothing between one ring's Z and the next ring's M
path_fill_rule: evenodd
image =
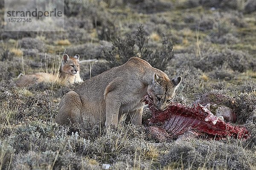
M83 122L81 107L79 95L74 91L69 91L61 99L55 122L59 125L81 124Z

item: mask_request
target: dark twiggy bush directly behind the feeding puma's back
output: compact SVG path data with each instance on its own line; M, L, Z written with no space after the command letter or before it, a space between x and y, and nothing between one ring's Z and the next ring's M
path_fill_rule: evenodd
M135 34L128 35L124 39L116 38L113 40L112 49L104 51L103 58L111 61L112 66L117 66L128 61L130 57L136 56L137 53L141 53L141 58L151 63L153 67L165 70L173 57L172 41L163 37L161 48L150 49L147 35L143 26L140 26Z

